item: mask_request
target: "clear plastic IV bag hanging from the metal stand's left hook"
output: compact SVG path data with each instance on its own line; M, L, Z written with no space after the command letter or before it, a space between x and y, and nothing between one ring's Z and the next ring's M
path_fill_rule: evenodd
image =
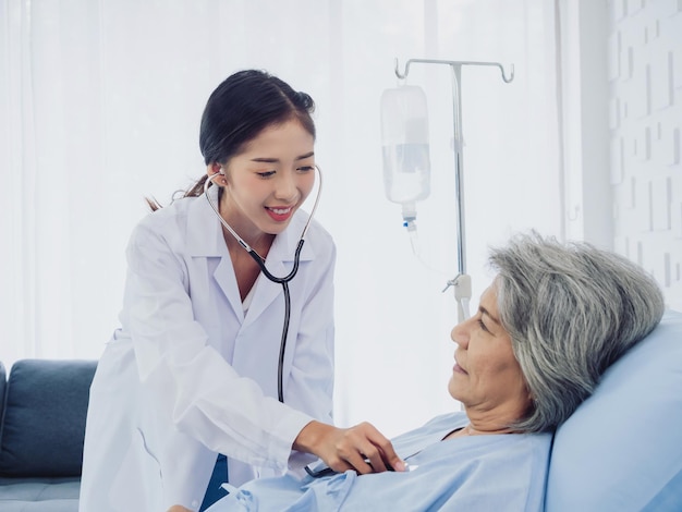
M428 113L421 87L402 85L383 92L381 144L388 199L405 205L428 197Z

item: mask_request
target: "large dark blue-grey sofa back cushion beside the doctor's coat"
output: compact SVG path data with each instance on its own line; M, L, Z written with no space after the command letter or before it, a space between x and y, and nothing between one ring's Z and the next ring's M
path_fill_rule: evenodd
M97 362L22 359L12 365L0 429L0 476L80 476Z

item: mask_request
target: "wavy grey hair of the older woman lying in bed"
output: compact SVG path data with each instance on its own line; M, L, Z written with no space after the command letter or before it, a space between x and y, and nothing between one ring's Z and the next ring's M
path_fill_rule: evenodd
M499 319L533 406L516 431L551 430L594 391L604 371L660 321L656 281L587 243L519 235L495 248Z

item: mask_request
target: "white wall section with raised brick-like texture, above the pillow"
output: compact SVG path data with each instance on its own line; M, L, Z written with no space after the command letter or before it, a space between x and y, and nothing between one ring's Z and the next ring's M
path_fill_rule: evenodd
M609 2L614 247L682 310L682 2Z

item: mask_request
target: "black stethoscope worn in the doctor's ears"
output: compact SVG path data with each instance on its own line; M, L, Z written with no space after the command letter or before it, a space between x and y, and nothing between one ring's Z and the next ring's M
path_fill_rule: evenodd
M228 222L222 218L222 216L220 215L220 211L218 210L218 207L216 206L214 200L210 198L210 194L208 194L208 187L210 186L210 184L216 178L223 176L224 174L222 172L218 172L214 174L212 176L208 176L208 179L204 182L204 195L206 196L206 199L208 200L208 204L210 205L212 210L218 216L218 219L220 219L220 223L222 223L224 229L227 229L232 234L232 236L234 236L234 239L239 242L239 244L242 247L244 247L244 249L251 255L251 257L254 258L254 260L258 264L258 267L260 267L260 270L263 271L265 277L268 278L273 283L281 284L282 290L284 291L284 325L282 326L282 340L280 341L279 361L277 365L277 398L282 403L284 402L284 389L283 389L284 388L283 386L284 350L287 348L287 336L289 333L289 318L291 316L291 297L289 295L289 281L291 281L299 272L299 264L301 263L301 249L303 248L303 242L305 242L305 234L308 231L308 227L310 225L310 221L313 220L315 210L317 210L319 196L322 192L322 172L317 164L315 166L315 169L317 169L317 175L319 176L319 183L317 186L317 197L315 197L313 209L310 210L308 220L305 223L305 227L303 228L303 232L301 233L301 240L299 240L299 245L296 246L296 252L294 253L294 266L291 269L291 271L282 278L278 278L277 276L273 276L266 268L265 259L263 259L263 257L251 245L248 245L239 234L236 234L236 231L234 231L232 227L228 224Z

